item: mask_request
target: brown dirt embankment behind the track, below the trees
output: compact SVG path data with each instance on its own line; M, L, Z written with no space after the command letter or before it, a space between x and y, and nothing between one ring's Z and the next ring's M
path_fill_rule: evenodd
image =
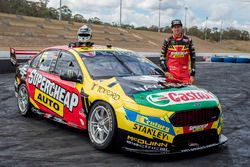
M9 47L40 50L76 40L81 23L0 13L0 50ZM91 25L93 41L140 52L160 52L162 41L171 34ZM197 52L250 52L249 41L208 42L192 37Z

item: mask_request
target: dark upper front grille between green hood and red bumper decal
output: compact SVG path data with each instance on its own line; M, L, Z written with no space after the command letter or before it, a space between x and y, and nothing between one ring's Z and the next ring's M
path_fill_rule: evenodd
M177 112L170 117L170 122L175 127L201 125L216 121L220 110L215 108L204 108Z

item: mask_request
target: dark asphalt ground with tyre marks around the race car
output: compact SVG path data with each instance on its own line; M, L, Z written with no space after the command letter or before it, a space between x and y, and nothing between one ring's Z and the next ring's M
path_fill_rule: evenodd
M197 64L197 85L221 100L227 146L175 156L145 156L95 150L79 131L17 112L14 74L0 75L0 166L249 166L250 65Z

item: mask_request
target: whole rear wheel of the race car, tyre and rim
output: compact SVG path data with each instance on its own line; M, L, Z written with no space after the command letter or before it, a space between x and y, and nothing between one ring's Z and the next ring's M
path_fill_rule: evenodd
M31 115L31 104L29 101L29 93L25 84L21 84L18 89L17 106L22 116Z

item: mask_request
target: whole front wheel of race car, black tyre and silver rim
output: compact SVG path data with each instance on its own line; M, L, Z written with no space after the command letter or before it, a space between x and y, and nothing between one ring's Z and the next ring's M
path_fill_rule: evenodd
M88 115L88 134L94 147L103 151L115 148L116 132L117 122L113 108L106 102L96 102Z

